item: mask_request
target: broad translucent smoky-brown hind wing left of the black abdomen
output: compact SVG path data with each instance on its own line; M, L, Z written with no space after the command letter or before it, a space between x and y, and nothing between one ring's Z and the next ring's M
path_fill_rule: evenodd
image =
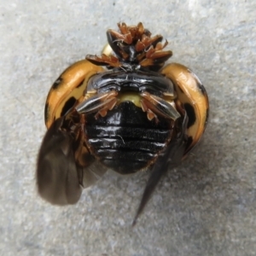
M63 120L56 119L49 127L38 154L38 193L55 205L75 204L83 187L89 187L106 172L95 164L86 148L78 154L78 142L61 130Z

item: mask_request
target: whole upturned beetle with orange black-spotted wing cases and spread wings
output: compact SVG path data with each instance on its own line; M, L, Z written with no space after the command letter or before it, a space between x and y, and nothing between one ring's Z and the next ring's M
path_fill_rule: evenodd
M141 22L118 26L108 30L101 56L74 63L50 88L37 183L46 201L66 205L108 168L151 169L135 224L160 177L199 142L209 104L189 68L164 67L172 51L161 35L151 36Z

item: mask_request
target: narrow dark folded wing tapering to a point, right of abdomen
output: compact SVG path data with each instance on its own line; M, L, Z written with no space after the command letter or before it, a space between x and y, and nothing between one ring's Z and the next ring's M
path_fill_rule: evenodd
M146 206L150 195L153 194L156 185L160 181L160 177L162 177L170 168L174 168L181 163L187 145L186 130L188 121L188 115L185 113L183 123L181 125L181 131L177 134L177 137L172 139L171 143L165 148L165 150L160 153L158 159L154 163L152 172L148 178L148 183L143 192L143 198L132 222L133 226L136 224L139 215L143 212L143 208Z

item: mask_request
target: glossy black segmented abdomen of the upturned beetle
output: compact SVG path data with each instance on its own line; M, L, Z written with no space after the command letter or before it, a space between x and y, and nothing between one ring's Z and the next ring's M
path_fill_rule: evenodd
M132 102L122 102L106 117L86 117L91 154L115 172L128 174L147 167L172 136L172 121L149 121Z

